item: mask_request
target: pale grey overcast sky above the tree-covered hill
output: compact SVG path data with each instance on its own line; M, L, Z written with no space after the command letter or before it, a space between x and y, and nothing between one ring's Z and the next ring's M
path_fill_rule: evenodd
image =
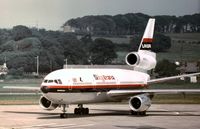
M71 18L138 12L150 16L200 13L200 0L0 0L0 28L25 25L60 30Z

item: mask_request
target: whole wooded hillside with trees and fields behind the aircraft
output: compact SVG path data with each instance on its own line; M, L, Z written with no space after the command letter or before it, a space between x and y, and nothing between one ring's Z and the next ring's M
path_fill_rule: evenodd
M0 64L6 61L12 74L35 72L36 56L39 56L39 71L46 73L62 68L65 59L68 64L125 64L125 55L137 49L149 17L141 13L85 16L64 24L82 31L81 34L22 25L0 29ZM200 14L154 17L156 32L152 48L160 52L158 60L200 59Z

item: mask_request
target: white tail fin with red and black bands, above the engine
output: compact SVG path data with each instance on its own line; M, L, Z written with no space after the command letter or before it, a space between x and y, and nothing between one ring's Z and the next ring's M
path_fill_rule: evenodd
M154 26L155 26L155 19L150 18L147 23L146 29L144 31L142 40L140 42L138 51L139 50L151 50L151 44L153 42Z

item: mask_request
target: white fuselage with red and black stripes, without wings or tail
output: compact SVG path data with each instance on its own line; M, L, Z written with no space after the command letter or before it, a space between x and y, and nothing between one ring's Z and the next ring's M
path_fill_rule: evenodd
M116 101L107 95L108 91L145 88L148 80L148 74L132 70L61 69L44 78L41 90L44 97L57 104L96 103Z

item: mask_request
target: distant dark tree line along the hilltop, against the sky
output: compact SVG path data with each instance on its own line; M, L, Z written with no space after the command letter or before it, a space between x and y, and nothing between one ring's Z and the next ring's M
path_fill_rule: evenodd
M200 13L179 17L149 16L142 13L84 16L66 21L63 27L73 27L79 34L87 32L94 35L132 35L143 32L150 17L156 19L157 32L200 32Z

